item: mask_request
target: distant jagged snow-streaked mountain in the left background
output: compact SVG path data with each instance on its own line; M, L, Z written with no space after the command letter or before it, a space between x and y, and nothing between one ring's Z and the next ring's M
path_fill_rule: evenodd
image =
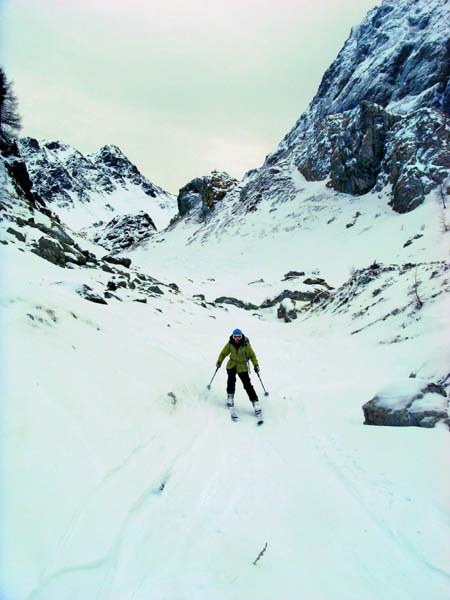
M33 189L90 239L113 218L143 212L162 229L175 213L173 196L143 177L117 146L84 156L61 142L22 138L19 148Z

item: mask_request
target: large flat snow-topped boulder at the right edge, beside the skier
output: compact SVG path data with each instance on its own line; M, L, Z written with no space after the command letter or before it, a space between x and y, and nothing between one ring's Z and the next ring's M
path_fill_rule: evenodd
M424 379L399 380L364 404L366 425L434 427L450 424L448 398L442 385Z

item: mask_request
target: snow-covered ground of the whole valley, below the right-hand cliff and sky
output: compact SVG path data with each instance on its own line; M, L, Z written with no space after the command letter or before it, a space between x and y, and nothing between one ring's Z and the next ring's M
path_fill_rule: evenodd
M443 6L384 2L369 13L370 52L416 13L439 41ZM390 127L373 106L355 115ZM420 111L442 118L425 107L404 119L420 129ZM374 427L362 411L374 397L408 404L428 383L448 393L446 186L394 212L388 184L353 195L308 181L295 150L226 195L206 186L208 211L203 196L187 202L156 232L142 205L153 197L128 180L119 197L103 157L108 192L61 148L43 155L86 177L67 207L36 185L54 181L59 198L62 175L1 147L2 600L448 597L445 419ZM423 172L445 171L425 150ZM112 222L86 239L114 199ZM270 392L252 374L263 428L239 383L230 421L223 368L206 389L235 327ZM444 414L448 398L429 396L418 409Z

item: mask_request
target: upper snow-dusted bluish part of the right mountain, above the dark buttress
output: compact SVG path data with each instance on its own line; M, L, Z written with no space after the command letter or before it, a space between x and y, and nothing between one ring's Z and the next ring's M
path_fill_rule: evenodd
M419 108L450 112L450 5L442 0L384 0L354 27L325 72L287 144L324 116L363 100L389 112Z

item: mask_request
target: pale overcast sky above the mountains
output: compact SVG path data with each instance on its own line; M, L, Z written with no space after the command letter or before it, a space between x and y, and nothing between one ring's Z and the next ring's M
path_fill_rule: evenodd
M116 144L177 192L259 166L374 0L0 0L23 134Z

